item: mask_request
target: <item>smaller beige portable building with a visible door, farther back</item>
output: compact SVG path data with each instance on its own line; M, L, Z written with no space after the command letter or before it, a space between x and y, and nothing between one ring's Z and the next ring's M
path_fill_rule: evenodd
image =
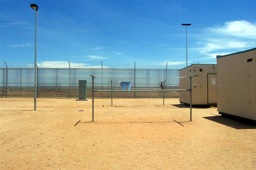
M214 64L192 64L180 70L180 89L189 89L192 77L192 105L217 105L217 68ZM180 103L190 103L190 92L180 91Z

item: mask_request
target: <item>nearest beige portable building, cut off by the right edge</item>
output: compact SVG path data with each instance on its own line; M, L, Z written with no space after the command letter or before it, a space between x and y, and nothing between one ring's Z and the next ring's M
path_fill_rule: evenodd
M256 120L256 48L217 56L218 111Z

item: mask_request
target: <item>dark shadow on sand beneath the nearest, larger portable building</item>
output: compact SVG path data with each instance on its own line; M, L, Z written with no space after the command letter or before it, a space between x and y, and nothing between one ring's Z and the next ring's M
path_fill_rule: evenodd
M204 119L211 120L213 122L233 127L234 129L256 129L256 124L240 119L233 119L225 116L209 116L203 117Z

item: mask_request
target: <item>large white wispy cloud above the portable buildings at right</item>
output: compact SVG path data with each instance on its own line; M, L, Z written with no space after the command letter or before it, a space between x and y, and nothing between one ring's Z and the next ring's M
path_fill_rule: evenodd
M204 45L197 48L203 59L215 59L216 55L225 55L242 51L256 46L256 24L247 21L230 21L224 26L206 28L206 33L215 38L201 37L198 44ZM193 50L189 49L189 50Z

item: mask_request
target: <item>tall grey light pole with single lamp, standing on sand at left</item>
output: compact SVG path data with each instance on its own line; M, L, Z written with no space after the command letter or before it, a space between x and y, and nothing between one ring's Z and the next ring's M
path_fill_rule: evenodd
M37 31L37 10L36 4L30 4L32 9L35 9L35 79L34 79L34 110L36 111L36 31Z

